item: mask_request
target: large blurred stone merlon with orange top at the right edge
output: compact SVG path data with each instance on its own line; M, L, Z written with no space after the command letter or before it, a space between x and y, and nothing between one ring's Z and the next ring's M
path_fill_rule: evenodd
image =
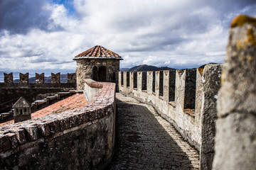
M256 18L231 23L218 97L213 169L256 167Z

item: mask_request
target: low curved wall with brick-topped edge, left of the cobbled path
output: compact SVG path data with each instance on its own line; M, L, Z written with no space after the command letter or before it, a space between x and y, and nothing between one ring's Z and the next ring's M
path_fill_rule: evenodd
M103 169L114 151L115 84L87 83L102 87L87 106L1 127L1 169Z

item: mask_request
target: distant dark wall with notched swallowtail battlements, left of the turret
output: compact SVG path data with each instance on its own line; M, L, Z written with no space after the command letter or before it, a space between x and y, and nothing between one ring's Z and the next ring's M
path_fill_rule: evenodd
M75 74L68 74L67 83L60 83L60 73L52 74L52 83L45 83L44 79L44 74L36 73L36 81L29 83L28 73L20 73L19 83L14 83L13 73L4 74L4 82L0 83L0 113L10 111L21 96L32 102L60 91L75 89Z

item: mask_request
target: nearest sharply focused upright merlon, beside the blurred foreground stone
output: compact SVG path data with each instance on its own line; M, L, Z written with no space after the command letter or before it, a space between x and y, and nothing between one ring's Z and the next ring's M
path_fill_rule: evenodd
M200 148L201 169L212 169L214 144L215 144L215 121L217 119L216 101L220 89L220 64L207 64L203 70L203 105L201 113L202 144Z

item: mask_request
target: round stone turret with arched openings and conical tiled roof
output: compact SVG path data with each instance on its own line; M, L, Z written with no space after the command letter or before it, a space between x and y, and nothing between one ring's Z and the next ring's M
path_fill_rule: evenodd
M119 72L119 61L122 57L105 47L95 47L81 52L73 59L77 62L76 77L77 90L84 89L84 80L117 82L116 73Z

